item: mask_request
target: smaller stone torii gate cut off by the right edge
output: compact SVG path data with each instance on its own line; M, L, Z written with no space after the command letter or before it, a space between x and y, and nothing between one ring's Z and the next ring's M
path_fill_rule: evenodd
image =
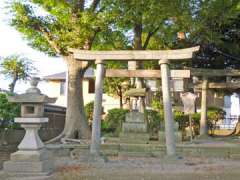
M200 119L200 136L208 135L207 128L207 91L208 89L239 89L239 83L226 82L226 83L214 83L209 82L211 77L240 77L240 71L236 69L200 69L192 68L191 75L202 77L202 85L196 86L196 88L202 90L201 99L201 119Z

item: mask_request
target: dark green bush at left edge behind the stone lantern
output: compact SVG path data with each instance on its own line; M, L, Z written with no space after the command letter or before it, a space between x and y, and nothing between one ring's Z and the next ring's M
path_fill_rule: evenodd
M1 128L18 128L14 123L14 118L20 116L20 105L8 102L7 96L10 94L0 93L0 123Z

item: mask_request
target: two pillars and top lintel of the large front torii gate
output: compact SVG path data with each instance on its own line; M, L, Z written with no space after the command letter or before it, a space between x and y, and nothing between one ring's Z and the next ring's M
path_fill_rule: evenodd
M174 137L174 121L172 114L172 104L170 97L170 60L190 59L193 53L199 50L199 46L180 50L151 50L151 51L87 51L70 49L73 57L80 61L95 61L96 80L95 80L95 100L93 110L92 138L90 153L100 155L101 138L101 114L102 114L102 94L103 79L105 76L104 61L146 61L157 60L161 67L162 93L164 106L164 120L166 131L167 155L175 155L176 145ZM124 71L123 71L124 72ZM132 71L133 73L133 71ZM136 73L136 72L135 72ZM160 74L159 74L160 77Z

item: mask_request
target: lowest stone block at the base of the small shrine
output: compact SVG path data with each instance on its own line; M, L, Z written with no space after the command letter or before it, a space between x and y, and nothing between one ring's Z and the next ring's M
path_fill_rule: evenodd
M150 136L148 133L120 133L120 143L148 144Z

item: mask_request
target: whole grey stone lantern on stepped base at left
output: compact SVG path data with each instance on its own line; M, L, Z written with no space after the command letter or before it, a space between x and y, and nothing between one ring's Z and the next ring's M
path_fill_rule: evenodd
M8 97L9 102L21 104L21 117L15 118L26 133L18 146L18 151L11 154L10 161L4 162L3 169L9 175L45 176L52 172L53 161L41 141L38 130L47 123L44 117L44 104L54 103L55 98L41 94L37 88L40 78L31 79L31 88L26 93Z

